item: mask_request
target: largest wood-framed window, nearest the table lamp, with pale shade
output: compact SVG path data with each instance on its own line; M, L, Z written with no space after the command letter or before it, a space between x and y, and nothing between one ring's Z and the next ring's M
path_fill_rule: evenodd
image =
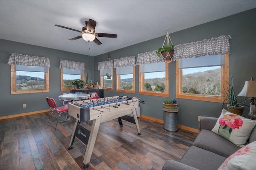
M223 88L228 87L228 57L225 53L176 61L176 98L222 103Z

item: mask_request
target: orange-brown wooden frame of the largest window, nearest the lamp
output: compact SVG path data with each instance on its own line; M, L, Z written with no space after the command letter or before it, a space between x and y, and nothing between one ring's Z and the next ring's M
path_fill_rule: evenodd
M191 99L191 100L199 100L199 101L210 101L210 102L218 102L223 103L226 97L223 95L224 88L228 88L229 82L229 55L225 53L225 65L220 67L220 91L222 93L221 96L212 96L206 97L205 95L195 95L195 94L185 94L182 93L182 69L178 69L178 61L176 61L176 98L180 99Z

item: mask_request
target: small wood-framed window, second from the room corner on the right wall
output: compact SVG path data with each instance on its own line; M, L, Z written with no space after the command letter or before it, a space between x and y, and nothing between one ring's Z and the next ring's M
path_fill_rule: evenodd
M135 93L135 66L116 68L116 91Z

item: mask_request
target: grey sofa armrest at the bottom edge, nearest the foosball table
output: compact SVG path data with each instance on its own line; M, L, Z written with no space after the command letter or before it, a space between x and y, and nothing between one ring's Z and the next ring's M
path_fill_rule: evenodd
M193 168L192 166L188 166L186 164L182 164L175 160L167 160L162 170L198 170L198 169Z

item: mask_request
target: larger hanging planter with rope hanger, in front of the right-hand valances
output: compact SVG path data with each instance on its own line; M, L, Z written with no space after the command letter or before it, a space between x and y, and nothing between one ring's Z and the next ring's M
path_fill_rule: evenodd
M167 39L167 41L166 41ZM164 47L164 44L166 42L166 46ZM170 45L171 43L171 45ZM158 49L156 51L156 53L160 56L160 53L162 54L162 57L164 58L164 62L166 63L171 63L173 60L173 55L174 55L174 45L172 44L172 40L169 36L169 33L168 33L168 30L167 30L167 33L166 33L166 37L164 39L164 43L162 45L162 48Z

